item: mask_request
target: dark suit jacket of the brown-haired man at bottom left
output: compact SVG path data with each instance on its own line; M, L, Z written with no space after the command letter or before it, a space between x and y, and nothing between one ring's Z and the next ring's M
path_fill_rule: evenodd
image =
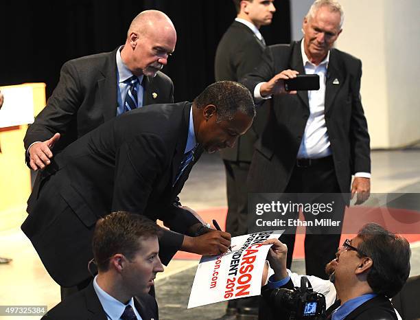
M158 306L151 295L134 297L137 311L143 320L159 320ZM42 317L43 320L107 320L93 284L68 297Z

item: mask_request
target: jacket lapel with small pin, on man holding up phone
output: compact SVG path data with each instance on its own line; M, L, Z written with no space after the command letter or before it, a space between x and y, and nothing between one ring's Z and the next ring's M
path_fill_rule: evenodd
M329 54L327 80L325 82L325 113L331 108L334 98L336 98L336 94L344 83L344 77L338 67L337 58L336 51L331 49Z

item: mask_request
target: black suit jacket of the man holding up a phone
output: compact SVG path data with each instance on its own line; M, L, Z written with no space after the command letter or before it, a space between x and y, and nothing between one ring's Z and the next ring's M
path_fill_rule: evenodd
M261 64L243 82L253 93L255 86L284 69L305 73L301 42L272 45ZM371 172L369 134L360 100L362 62L331 49L325 92L325 122L340 191L350 191L351 174ZM339 82L335 84L334 82ZM264 133L257 141L248 182L250 192L284 192L310 115L307 91L277 95Z

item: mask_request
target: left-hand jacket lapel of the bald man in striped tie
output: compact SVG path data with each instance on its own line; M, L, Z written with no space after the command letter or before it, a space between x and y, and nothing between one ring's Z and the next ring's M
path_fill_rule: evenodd
M117 54L117 49L113 52L110 52L108 59L104 65L104 68L100 70L102 76L97 81L99 87L100 97L102 99L102 105L106 106L104 108L104 121L107 122L110 119L113 119L117 115L117 62L115 60L115 55Z

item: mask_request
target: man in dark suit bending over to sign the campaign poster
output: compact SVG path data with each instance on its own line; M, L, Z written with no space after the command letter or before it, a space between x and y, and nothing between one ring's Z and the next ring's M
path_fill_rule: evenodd
M248 89L216 82L191 104L158 104L130 111L84 135L40 172L22 230L61 286L89 279L95 222L125 210L162 220L164 264L178 250L226 252L229 233L208 229L178 194L202 150L232 147L253 122ZM201 235L201 236L200 236ZM193 238L196 236L196 238Z

